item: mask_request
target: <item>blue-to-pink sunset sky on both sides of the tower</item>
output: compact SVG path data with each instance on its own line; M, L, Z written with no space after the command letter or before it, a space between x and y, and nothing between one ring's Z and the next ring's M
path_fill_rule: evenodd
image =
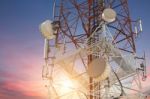
M150 71L150 0L129 0L129 6L132 17L143 21L137 52L146 51ZM39 25L51 17L52 0L0 0L0 99L47 99Z

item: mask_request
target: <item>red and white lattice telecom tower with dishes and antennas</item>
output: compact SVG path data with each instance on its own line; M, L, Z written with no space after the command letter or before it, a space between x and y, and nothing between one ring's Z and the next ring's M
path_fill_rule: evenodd
M145 99L145 55L135 46L142 24L128 0L54 0L40 31L50 99Z

